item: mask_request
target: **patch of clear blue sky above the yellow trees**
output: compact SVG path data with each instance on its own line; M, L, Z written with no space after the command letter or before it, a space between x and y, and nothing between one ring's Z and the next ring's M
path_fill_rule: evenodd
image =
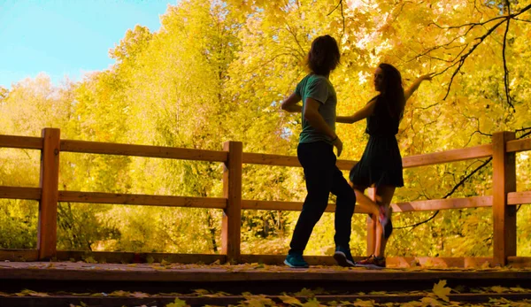
M101 71L108 51L139 24L151 32L177 0L0 0L0 86L38 73L58 85Z

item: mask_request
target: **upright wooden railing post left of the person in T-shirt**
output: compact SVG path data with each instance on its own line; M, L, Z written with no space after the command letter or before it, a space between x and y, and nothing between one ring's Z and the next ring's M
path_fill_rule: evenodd
M240 232L242 228L242 142L224 142L228 151L223 170L223 197L227 208L223 211L221 227L221 252L227 255L227 262L238 262L240 258Z

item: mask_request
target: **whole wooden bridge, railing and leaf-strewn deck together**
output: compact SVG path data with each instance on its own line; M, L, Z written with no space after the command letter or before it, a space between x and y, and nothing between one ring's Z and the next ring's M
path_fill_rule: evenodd
M450 282L456 284L459 282L484 282L489 285L496 282L500 283L501 280L504 280L504 284L522 285L529 284L529 280L531 280L531 269L525 269L531 267L531 257L516 256L516 205L531 203L531 191L516 192L515 163L516 152L531 150L531 139L515 140L515 134L512 132L499 132L494 134L490 144L404 157L404 167L419 167L423 165L436 165L492 157L492 196L473 196L392 204L395 212L435 211L475 207L492 208L494 248L491 257L388 257L387 259L389 267L408 267L412 263L412 260L415 259L420 265L429 261L439 270L428 272L412 272L404 269L370 273L364 269L350 269L337 272L336 269L329 269L328 266L319 266L315 269L303 271L293 271L281 266L267 266L267 270L263 270L263 267L260 267L259 270L249 268L238 270L237 264L260 263L265 265L280 265L284 258L284 255L246 255L241 253L242 210L300 211L302 208L302 203L299 202L242 199L242 165L300 167L296 157L242 152L242 142L225 142L223 144L223 150L217 151L62 140L60 138L60 131L55 128L43 129L42 137L0 135L0 147L40 150L42 153L40 184L38 188L0 186L0 198L29 199L39 202L37 249L0 249L0 260L9 261L0 265L0 280L2 280L2 284L4 285L2 289L5 291L17 291L20 288L32 287L37 289L42 287L43 280L47 280L46 284L50 287L52 285L57 285L57 288L66 286L70 288L92 287L95 291L101 290L100 288L102 287L112 288L109 284L116 282L119 282L119 287L122 288L138 288L138 282L141 282L143 288L148 287L143 281L150 281L153 285L158 285L159 288L162 284L166 286L172 285L172 287L185 287L182 285L186 284L186 287L189 288L190 285L197 286L205 282L209 283L210 286L208 287L212 288L215 285L212 282L218 282L219 284L220 280L224 280L224 282L227 281L227 287L230 285L233 288L250 288L252 284L257 284L264 288L263 286L267 284L267 287L273 289L282 285L288 287L293 284L294 280L303 280L300 282L297 281L298 286L307 284L311 287L316 284L329 284L333 288L340 287L338 285L348 286L350 288L374 287L375 283L378 285L389 284L388 281L393 279L409 280L409 283L401 282L399 286L401 288L410 286L410 288L414 288L412 285L419 286L419 284L423 284L425 288L427 285L431 287L433 286L433 283L430 283L431 281L442 279L450 280ZM151 196L59 190L59 157L62 152L159 157L223 163L225 165L223 171L223 197ZM348 160L337 161L338 167L342 170L350 170L355 163L355 161ZM72 258L81 260L85 257L85 252L57 249L58 202L219 209L224 212L221 232L221 253L206 255L91 252L91 257L96 261L105 259L107 263L143 263L150 257L156 263L163 262L164 260L167 263L181 265L175 267L170 265L169 267L165 267L165 270L159 270L151 266L142 268L142 265L140 267L132 267L127 265L85 264L90 268L87 269L87 266L84 267L79 264L60 262ZM333 212L334 210L335 205L333 203L329 204L327 211ZM358 207L356 212L368 213L360 211ZM375 229L376 219L375 217L369 216L367 219L368 254L373 250ZM335 265L332 257L308 256L305 258L310 265ZM50 259L59 262L42 262L49 261ZM20 262L22 260L30 262ZM196 266L186 266L187 264L196 264L198 262L202 262L206 266L199 268ZM512 268L523 269L519 271L466 270L467 267L481 267L481 265L487 262L489 262L489 265L511 265ZM208 264L225 263L232 263L233 265L227 267L219 267L217 265L208 266ZM52 267L50 267L50 264L52 264ZM50 268L53 269L50 270ZM462 269L445 271L444 268ZM272 282L272 280L275 281ZM9 283L5 281L9 281ZM427 281L429 282L427 283ZM137 282L135 284L136 286L133 286L134 282ZM109 290L107 289L107 291ZM527 292L527 295L526 297L531 297L531 290ZM350 295L350 298L352 297L354 296ZM150 299L152 298L150 297ZM40 305L39 302L42 303L45 300L37 301L32 301L32 305ZM3 297L0 299L0 302L17 305L12 300L12 297ZM22 301L19 300L17 302ZM123 302L121 303L123 304ZM20 303L19 305L22 304ZM29 305L28 301L24 304ZM100 303L95 304L104 305ZM119 303L117 304L120 305ZM197 304L200 305L202 303Z

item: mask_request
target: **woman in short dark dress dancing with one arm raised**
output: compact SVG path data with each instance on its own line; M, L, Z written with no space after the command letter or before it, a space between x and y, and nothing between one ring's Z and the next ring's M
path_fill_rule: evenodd
M385 247L393 231L389 205L395 189L404 187L402 157L396 142L398 125L404 114L405 102L419 88L422 81L431 81L431 73L420 76L404 91L398 70L382 63L374 71L374 88L380 92L366 106L342 122L355 123L366 119L369 142L357 165L350 170L350 183L361 207L379 217L381 227L376 230L374 254L356 263L356 266L381 269L385 267ZM376 203L365 196L366 188L375 186Z

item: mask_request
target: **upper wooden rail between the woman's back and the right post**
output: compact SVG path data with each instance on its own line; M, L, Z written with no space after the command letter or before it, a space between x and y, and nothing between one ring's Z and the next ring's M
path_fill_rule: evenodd
M473 158L492 156L492 145L480 145L459 150L445 150L430 154L404 157L402 165L404 168L417 167L423 165L438 165L448 162L463 161Z

